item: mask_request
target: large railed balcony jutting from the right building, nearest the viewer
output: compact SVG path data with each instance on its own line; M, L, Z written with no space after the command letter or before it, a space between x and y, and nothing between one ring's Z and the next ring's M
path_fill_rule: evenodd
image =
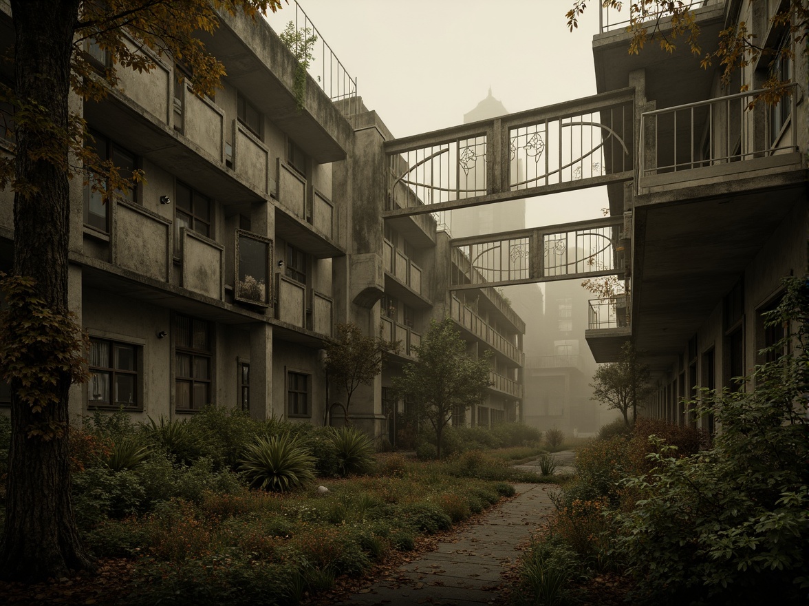
M798 148L797 84L777 105L742 92L642 114L638 194L681 197L684 188L726 193L803 169ZM659 201L660 195L654 196Z

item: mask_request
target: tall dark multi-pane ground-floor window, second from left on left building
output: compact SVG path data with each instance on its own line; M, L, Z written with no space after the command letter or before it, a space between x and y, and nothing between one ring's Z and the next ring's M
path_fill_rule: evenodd
M210 322L177 315L174 318L175 406L199 410L211 403Z

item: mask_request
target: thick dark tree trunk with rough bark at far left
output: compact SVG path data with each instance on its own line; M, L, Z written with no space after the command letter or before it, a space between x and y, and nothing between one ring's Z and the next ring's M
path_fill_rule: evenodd
M15 25L16 93L44 108L44 118L67 130L70 54L78 0L11 0ZM67 252L70 193L66 140L18 123L14 201L14 274L36 280L36 292L56 314L67 312ZM64 164L36 157L42 150L64 157ZM53 356L41 351L36 355ZM11 449L6 523L0 543L0 576L19 581L60 577L87 569L70 504L67 444L70 373L56 377L57 403L32 412L11 382ZM32 426L50 424L53 437L29 436Z

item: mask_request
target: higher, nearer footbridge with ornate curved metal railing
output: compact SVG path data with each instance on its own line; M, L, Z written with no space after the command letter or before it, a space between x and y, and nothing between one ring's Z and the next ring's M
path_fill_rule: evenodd
M629 181L634 89L385 143L383 218Z

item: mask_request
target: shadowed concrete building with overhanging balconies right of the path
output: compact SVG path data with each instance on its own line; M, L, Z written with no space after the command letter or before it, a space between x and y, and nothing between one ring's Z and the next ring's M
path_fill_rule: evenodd
M703 54L742 21L758 45L794 45L788 25L772 21L786 6L693 2ZM673 53L649 44L629 55L625 19L604 9L593 54L599 93L634 92L635 171L609 190L612 215L631 220L629 297L594 302L587 340L597 361L611 361L632 339L656 382L646 414L697 425L682 400L696 386L738 388L732 378L777 339L762 314L777 305L781 278L807 274L807 53L763 53L726 88L722 66L701 69L684 41ZM751 105L773 75L791 82L788 96ZM599 303L612 324L599 325ZM714 429L709 417L698 422Z

